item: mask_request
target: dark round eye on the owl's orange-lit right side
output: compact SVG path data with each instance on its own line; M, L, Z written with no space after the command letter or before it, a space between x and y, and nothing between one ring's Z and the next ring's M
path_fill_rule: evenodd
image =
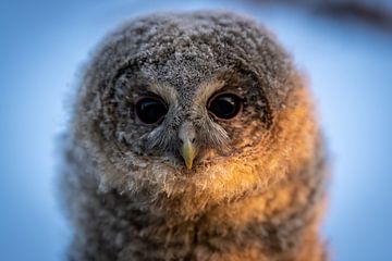
M230 120L238 114L242 99L234 94L221 94L208 102L208 111L218 119Z

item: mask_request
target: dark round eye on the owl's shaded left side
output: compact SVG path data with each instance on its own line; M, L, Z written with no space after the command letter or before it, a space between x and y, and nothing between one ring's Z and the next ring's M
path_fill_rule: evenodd
M137 100L135 112L140 122L145 124L156 124L168 113L168 107L159 98L145 97Z

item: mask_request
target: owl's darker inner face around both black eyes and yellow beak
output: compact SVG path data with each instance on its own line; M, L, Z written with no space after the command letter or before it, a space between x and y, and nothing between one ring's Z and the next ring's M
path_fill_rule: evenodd
M112 119L124 152L194 172L257 146L270 126L266 97L252 75L225 69L186 86L142 70L115 80Z

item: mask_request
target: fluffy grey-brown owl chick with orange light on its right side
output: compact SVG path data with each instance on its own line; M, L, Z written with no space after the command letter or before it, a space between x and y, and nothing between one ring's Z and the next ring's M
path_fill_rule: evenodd
M64 154L69 260L327 260L311 97L250 18L158 13L113 32Z

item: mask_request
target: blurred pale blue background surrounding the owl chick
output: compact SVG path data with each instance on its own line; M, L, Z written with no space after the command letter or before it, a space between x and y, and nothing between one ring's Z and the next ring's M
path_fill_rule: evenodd
M308 75L333 163L322 227L333 260L392 260L392 34L296 7L180 0L1 0L0 260L63 260L54 140L99 39L136 14L201 8L255 16Z

